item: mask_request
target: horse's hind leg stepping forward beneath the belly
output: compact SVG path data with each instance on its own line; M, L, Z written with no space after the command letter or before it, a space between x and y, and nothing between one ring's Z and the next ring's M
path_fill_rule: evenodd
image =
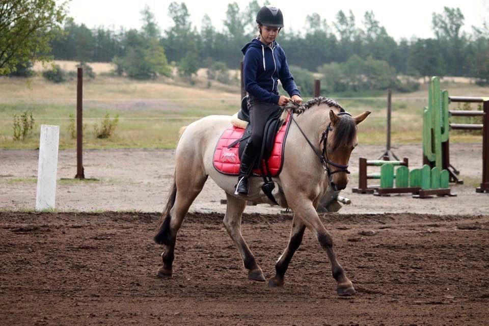
M224 226L229 235L236 244L239 254L243 259L244 267L248 269L248 278L255 281L265 281L263 271L256 263L255 257L248 248L248 245L241 234L241 216L246 207L246 200L236 198L226 193L227 206L226 215L224 216Z

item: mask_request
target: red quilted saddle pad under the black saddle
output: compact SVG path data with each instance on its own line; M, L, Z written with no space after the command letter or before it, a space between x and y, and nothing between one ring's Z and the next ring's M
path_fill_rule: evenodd
M290 122L290 114L287 115L285 123L280 127L279 132L275 137L274 148L271 150L270 157L268 158L268 168L272 176L277 176L282 170L282 160L284 153L285 138L287 137L287 131ZM244 129L231 125L224 130L218 144L214 150L214 168L223 174L238 175L239 173L239 143L234 147L228 148L233 142L237 141L243 136ZM245 142L248 140L244 140ZM263 167L265 163L262 162ZM260 175L260 169L253 170L253 173Z

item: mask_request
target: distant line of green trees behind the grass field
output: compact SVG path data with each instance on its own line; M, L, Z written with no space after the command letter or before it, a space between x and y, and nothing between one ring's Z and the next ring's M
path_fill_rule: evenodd
M149 8L142 12L144 26L140 31L89 29L68 20L64 34L51 43L52 55L59 60L114 61L119 73L129 75L127 69L131 69L133 60L153 58L152 64L160 64L159 70L143 73L142 78L168 74L172 63L190 73L215 62L235 69L242 59L241 47L258 34L255 15L259 8L257 1L250 2L244 9L236 3L229 4L223 31L216 30L207 15L198 31L191 23L185 4L176 2L168 9L173 25L165 31L160 31ZM489 25L484 22L481 26L472 26L470 34L460 31L463 25L464 15L460 9L440 8L440 12L432 14L434 38L396 42L372 11L364 14L361 26L356 24L351 11L339 11L331 23L313 13L307 16L303 31L292 31L285 26L278 42L285 49L289 65L314 72L337 73L342 78L346 78L350 70L368 75L370 63L370 67L373 65L377 70L392 74L473 76L487 83ZM409 33L409 26L405 28ZM358 75L357 79L357 85L364 82ZM341 80L338 82L341 84ZM345 88L344 85L332 87L332 90Z

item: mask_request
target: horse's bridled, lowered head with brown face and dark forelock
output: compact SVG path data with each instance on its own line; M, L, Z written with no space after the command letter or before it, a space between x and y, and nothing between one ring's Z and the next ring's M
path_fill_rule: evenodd
M369 114L370 111L365 111L356 117L352 117L346 113L336 114L334 110L330 110L330 121L324 128L324 134L327 137L324 156L328 160L329 182L335 191L346 188L349 173L347 170L348 161L351 151L358 144L357 125L365 120Z

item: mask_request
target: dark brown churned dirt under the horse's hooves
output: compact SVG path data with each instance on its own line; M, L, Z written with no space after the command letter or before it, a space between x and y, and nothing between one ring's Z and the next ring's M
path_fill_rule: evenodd
M282 288L247 280L219 213L189 213L174 277L158 279L159 213L0 212L3 325L486 325L489 216L321 215L357 295L338 297L306 230ZM263 268L288 241L290 215L246 214ZM373 232L372 232L373 231Z

